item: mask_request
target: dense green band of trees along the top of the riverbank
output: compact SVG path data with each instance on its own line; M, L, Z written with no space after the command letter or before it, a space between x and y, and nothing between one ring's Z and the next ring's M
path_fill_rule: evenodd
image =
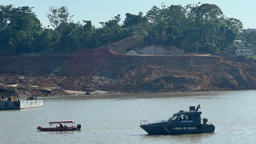
M91 21L73 22L68 8L49 7L46 17L51 27L42 27L33 7L0 5L0 53L20 54L46 51L93 49L129 36L137 28L140 46L174 45L185 52L215 53L241 40L243 24L227 18L215 4L153 6L146 15L126 13L121 23L118 14L96 28ZM121 23L121 24L120 24ZM255 35L249 37L255 43Z

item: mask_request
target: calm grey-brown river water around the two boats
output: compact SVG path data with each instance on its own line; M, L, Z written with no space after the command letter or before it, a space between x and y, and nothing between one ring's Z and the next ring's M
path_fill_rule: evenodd
M43 107L0 111L0 143L254 143L255 90L42 97ZM166 120L201 104L214 133L148 135L140 120ZM75 120L81 131L40 132L49 121Z

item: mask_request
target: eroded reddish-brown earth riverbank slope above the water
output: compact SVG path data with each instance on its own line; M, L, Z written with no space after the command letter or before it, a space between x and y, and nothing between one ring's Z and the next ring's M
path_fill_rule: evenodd
M65 90L130 93L256 89L255 61L246 57L118 55L97 48L80 49L68 56L1 57L0 65L0 94L4 95L27 94L29 76L32 93L37 96L67 94Z

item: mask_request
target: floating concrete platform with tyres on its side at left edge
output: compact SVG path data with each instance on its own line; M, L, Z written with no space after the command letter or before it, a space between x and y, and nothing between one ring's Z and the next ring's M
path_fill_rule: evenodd
M43 107L43 100L1 101L0 102L0 110L26 109L31 107Z

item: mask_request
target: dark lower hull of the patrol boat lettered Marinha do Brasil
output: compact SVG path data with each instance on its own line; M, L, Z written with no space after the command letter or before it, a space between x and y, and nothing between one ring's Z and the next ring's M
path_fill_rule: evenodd
M214 125L200 126L150 126L141 125L143 130L148 134L202 134L212 133L215 131Z

